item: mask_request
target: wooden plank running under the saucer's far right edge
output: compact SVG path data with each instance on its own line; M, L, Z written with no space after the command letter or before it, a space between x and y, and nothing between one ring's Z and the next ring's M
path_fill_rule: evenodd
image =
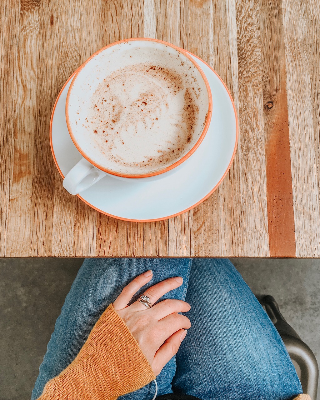
M235 1L216 2L213 7L214 52L212 66L238 104L238 58ZM240 166L236 155L230 172L217 189L218 249L220 256L239 254L242 248ZM210 252L209 252L210 254Z

